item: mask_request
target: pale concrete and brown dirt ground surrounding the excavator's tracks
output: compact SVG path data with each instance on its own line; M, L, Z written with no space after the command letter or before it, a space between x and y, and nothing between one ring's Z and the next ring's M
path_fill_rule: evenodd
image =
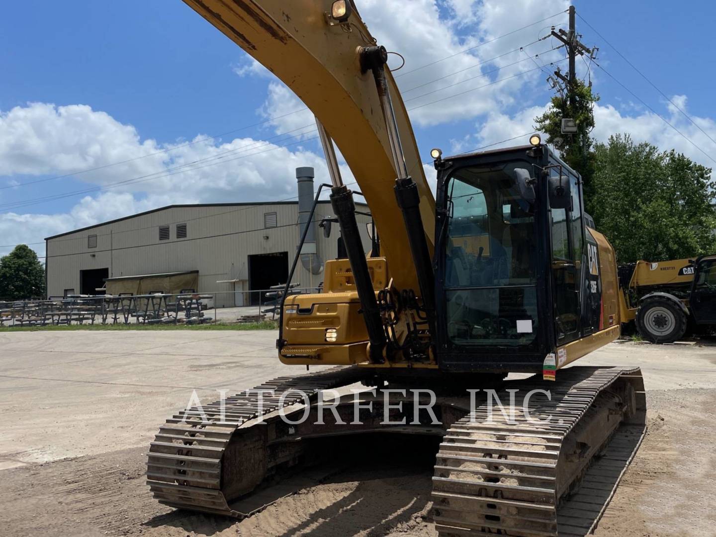
M273 332L0 334L0 535L435 536L428 445L306 475L238 523L173 511L144 482L164 418L216 389L294 372ZM611 344L580 364L639 365L649 431L597 536L716 535L716 346ZM4 469L2 469L4 468Z

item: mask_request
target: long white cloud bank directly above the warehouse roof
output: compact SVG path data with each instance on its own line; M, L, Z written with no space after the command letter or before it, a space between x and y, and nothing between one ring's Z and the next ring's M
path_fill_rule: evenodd
M63 175L122 160L130 162L74 176L88 184L83 187L73 183L64 191L107 188L120 181L149 177L86 195L67 213L24 213L32 211L32 205L5 205L7 212L0 214L0 244L35 243L56 233L172 203L293 198L295 169L299 166L313 166L316 181L329 182L324 159L306 149L304 143L301 137L244 137L221 142L199 135L191 145L163 144L142 141L131 125L84 105L32 103L15 107L0 113L0 176L6 176L9 185L18 183L14 177L18 174ZM165 150L170 151L158 153ZM344 176L347 182L352 180L347 169ZM21 203L41 195L37 190L23 195L23 189L16 185L0 190L0 204ZM9 249L2 248L0 254ZM41 255L43 250L42 245L37 246Z

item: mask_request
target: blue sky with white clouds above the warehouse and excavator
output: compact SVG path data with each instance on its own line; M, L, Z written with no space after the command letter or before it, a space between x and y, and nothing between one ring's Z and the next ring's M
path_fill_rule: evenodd
M474 47L569 5L564 0L357 3L379 42L406 54L408 69ZM407 16L397 15L401 4L408 7L403 11ZM690 9L662 0L577 1L575 5L589 24L716 139L710 27L716 6L712 2L690 2ZM566 14L561 14L399 79L411 107L520 74L508 83L477 89L465 99L416 110L413 122L425 161L430 147L443 147L448 153L470 150L529 132L532 117L546 106L551 90L546 75L526 72L536 64L519 52L480 66L483 77L459 88L440 89L446 82L437 82L413 92L408 89L533 42L548 33L550 24L566 22ZM679 112L669 110L664 98L579 18L577 26L585 44L600 48L599 64L716 158L713 142ZM546 40L527 50L534 54L552 46ZM561 52L539 61L543 58L557 60ZM519 60L523 61L514 64ZM580 61L578 69L584 75L586 64ZM491 71L495 72L484 74ZM9 4L0 19L0 72L0 246L4 246L0 254L9 251L6 245L36 243L44 236L168 203L289 198L294 195L292 167L321 167L321 152L314 140L306 139L310 136L278 136L306 125L306 118L310 123L309 115L248 127L291 112L300 103L274 77L252 67L241 49L180 0ZM591 73L601 95L596 137L630 132L638 140L663 149L675 147L700 163L714 165L598 67L593 65ZM432 89L438 91L410 101ZM142 158L196 137L230 131L236 132ZM291 145L274 150L271 142L281 145L281 140ZM264 147L273 153L264 153ZM150 177L91 191L237 149L245 158L233 166L216 165L170 179ZM169 155L173 160L165 160ZM121 160L132 162L112 166ZM55 179L97 166L105 168ZM85 192L72 194L80 190ZM41 201L44 197L55 198ZM34 247L42 255L42 244Z

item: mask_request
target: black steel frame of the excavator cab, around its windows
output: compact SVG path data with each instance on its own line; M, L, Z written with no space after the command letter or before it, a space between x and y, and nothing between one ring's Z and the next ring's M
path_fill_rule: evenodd
M536 314L536 318L530 319L530 324L534 329L533 339L529 344L516 344L516 342L504 344L504 340L503 342L495 342L495 344L485 344L485 342L479 341L475 341L475 344L473 344L470 342L468 335L468 339L464 344L456 344L454 338L450 337L448 332L448 324L451 322L450 311L448 311L450 308L450 293L455 289L470 293L475 292L476 289L486 288L485 286L471 286L470 284L457 287L450 285L448 250L451 245L448 228L450 218L453 218L450 215L450 211L454 210L454 203L449 191L450 179L454 177L455 172L463 168L499 168L502 165L511 165L513 163L523 165L523 168L531 171L531 177L534 178L535 200L532 205L534 240L531 242L531 251L529 253L533 257L533 284L530 284L529 287L533 290L531 291L534 293L533 304L536 306L536 311L533 311ZM555 352L558 345L565 343L563 338L560 340L560 330L555 321L555 291L559 284L556 283L553 274L552 210L549 203L546 173L548 173L547 170L558 169L560 174L572 178L577 189L576 199L579 199L579 214L584 215L581 177L545 145L526 145L445 159L440 158L435 161L435 168L437 169L435 256L433 258L437 308L435 351L440 368L461 372L540 371L546 355ZM583 245L582 251L575 252L573 257L581 260L583 267L586 266L586 263L584 263L586 261L586 256L584 255L586 241L584 239L589 240L591 238L585 226L587 218L589 216L581 218L579 231L573 230L575 233L581 233L581 244ZM480 251L481 255L482 251ZM525 288L527 286L505 286L503 289L518 289L519 287ZM495 289L495 286L488 286L487 288ZM583 289L582 286L579 289ZM503 292L502 289L497 291L497 294ZM580 321L576 331L576 338L573 334L571 341L581 337L584 333L594 332L594 330L590 330L588 326L585 326L585 324L589 323L584 322L584 308L579 306L579 296L576 304L578 306L574 314ZM513 320L509 319L510 322ZM505 321L505 319L499 319L499 321ZM516 334L512 334L512 337L516 337Z

